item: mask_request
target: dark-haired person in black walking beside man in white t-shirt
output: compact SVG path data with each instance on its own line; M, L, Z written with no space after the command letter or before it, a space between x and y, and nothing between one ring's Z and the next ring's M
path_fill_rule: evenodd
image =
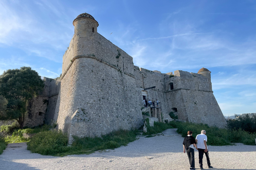
M188 159L190 163L190 169L195 169L195 152L194 152L194 146L197 149L196 146L196 140L192 136L192 131L188 131L188 135L183 140L183 152L185 153L187 151ZM198 150L198 149L197 149Z

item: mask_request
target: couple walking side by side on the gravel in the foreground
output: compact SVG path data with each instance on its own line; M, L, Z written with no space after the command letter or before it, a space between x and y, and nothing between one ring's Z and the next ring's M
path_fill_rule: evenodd
M199 155L199 166L200 169L203 169L203 156L205 154L208 168L213 168L210 163L209 159L209 152L207 147L207 136L206 131L202 130L201 134L198 134L196 136L196 139L192 136L192 131L188 131L188 135L184 138L183 141L183 152L188 155L189 163L190 163L190 169L195 169L195 157L194 157L194 147L198 150Z

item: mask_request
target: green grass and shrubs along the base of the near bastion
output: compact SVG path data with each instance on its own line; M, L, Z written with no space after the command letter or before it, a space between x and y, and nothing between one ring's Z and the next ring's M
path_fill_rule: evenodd
M136 140L138 130L118 130L101 137L74 137L71 146L67 146L67 134L50 130L35 134L28 142L28 150L33 153L52 156L66 156L72 154L90 154L97 150L114 149L126 146Z

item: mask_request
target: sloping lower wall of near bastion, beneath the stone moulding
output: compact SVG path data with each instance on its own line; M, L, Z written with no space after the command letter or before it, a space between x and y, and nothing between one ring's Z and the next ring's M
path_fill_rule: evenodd
M69 135L94 137L143 124L133 77L92 58L78 58L73 65L77 68L71 92L74 102L71 110L65 109L66 117L71 118L69 125L65 125L69 127Z

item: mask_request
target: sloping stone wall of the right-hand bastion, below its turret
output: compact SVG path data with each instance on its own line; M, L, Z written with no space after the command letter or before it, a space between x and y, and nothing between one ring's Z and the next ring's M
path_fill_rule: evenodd
M201 74L180 70L175 71L174 75L166 79L165 90L169 107L177 108L178 118L224 128L226 121L212 93L209 79ZM169 87L171 82L173 90Z

